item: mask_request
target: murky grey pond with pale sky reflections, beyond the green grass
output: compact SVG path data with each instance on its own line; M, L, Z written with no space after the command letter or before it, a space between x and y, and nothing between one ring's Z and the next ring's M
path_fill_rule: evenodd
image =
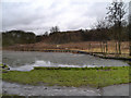
M3 51L2 62L11 70L31 71L34 66L61 68L94 68L94 66L126 66L120 60L108 60L90 54L36 51Z

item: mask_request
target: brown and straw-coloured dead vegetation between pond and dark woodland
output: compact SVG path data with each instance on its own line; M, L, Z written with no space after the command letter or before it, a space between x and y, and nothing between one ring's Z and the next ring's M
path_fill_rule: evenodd
M107 53L116 53L115 49L115 41L108 41L108 51ZM3 48L3 50L20 50L20 51L43 51L45 49L57 49L57 50L83 50L87 52L102 52L100 42L99 41L84 41L84 42L69 42L69 44L45 44L45 42L37 42L37 44L28 44L28 45L15 45ZM129 42L123 41L121 42L121 53L128 54L129 53Z

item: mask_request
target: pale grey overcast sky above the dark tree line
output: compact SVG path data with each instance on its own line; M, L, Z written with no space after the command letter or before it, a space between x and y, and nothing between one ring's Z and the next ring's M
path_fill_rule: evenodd
M109 2L88 0L24 0L2 2L2 29L22 29L37 35L59 26L60 30L91 28L106 16Z

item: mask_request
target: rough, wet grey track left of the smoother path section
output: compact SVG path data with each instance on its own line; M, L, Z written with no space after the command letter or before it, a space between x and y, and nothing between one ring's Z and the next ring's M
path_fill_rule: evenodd
M60 86L31 86L3 82L3 94L20 96L99 96L95 88L76 88Z

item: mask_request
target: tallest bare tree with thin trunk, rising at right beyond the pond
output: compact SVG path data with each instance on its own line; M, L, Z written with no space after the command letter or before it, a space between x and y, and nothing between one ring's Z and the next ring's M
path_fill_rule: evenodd
M110 7L107 8L107 19L115 27L115 37L116 37L116 51L121 53L121 32L122 32L122 21L126 15L126 7L124 3L120 0L114 1Z

